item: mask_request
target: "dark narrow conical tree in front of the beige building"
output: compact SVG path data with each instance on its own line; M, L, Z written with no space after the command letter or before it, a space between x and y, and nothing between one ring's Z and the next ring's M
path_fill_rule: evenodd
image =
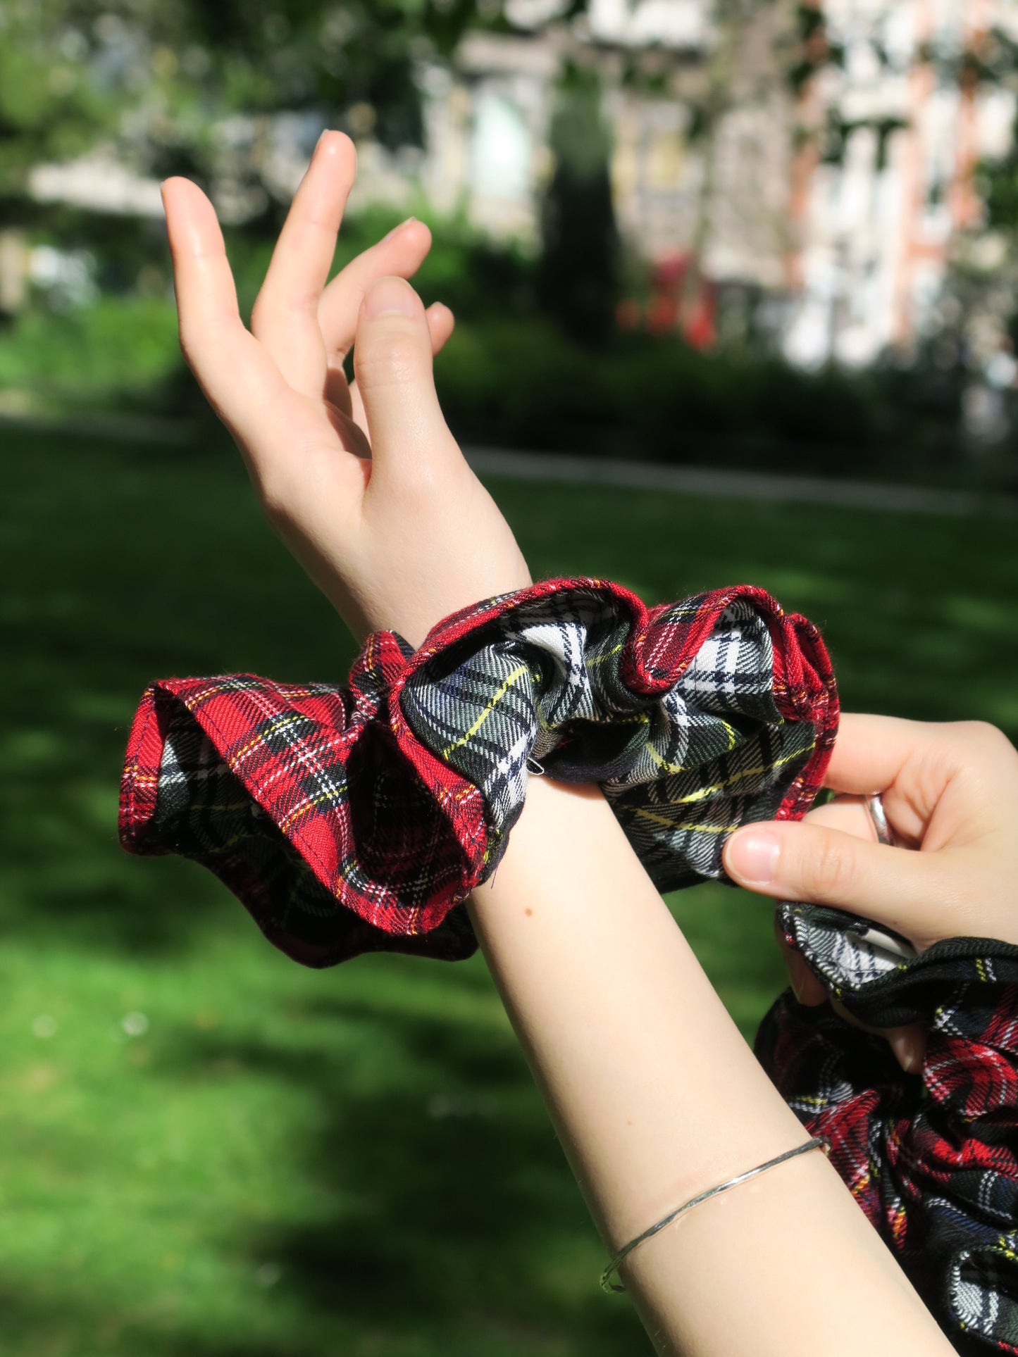
M550 147L555 167L542 204L538 296L567 334L596 347L612 331L620 258L611 132L596 72L565 66Z

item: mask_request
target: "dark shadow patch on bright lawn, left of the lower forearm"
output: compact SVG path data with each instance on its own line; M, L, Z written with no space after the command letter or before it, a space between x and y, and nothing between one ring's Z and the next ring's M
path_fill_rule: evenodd
M246 1240L251 1270L273 1261L311 1331L375 1333L384 1353L410 1350L415 1334L444 1335L442 1352L464 1354L643 1349L630 1308L597 1288L600 1246L508 1031L400 1020L342 995L301 1012L343 1042L376 1045L366 1083L380 1087L365 1087L362 1069L350 1080L343 1042L295 1052L208 1033L164 1049L156 1072L257 1072L314 1099L315 1133L293 1152L315 1183L318 1219ZM581 1259L582 1300L567 1284Z

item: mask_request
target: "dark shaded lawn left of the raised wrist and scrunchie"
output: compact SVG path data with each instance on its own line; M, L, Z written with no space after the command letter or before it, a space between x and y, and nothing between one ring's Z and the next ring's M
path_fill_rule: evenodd
M147 684L242 669L342 683L353 643L265 529L236 455L7 433L0 509L0 892L8 927L191 949L229 908L197 868L128 859L117 790Z

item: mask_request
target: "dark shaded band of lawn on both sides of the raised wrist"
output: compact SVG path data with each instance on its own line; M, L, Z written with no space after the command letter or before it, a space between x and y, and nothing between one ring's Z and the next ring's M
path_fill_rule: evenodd
M115 843L141 689L167 673L346 676L353 643L266 531L232 448L202 437L205 452L7 433L0 870L19 928L193 946L221 892ZM535 577L603 574L649 601L751 579L824 627L846 706L1018 729L1007 525L595 487L535 497L516 482L495 493ZM152 897L167 904L147 908Z

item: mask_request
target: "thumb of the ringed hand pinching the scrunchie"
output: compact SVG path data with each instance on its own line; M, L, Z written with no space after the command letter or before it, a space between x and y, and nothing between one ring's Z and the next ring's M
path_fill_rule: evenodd
M825 825L768 821L736 830L722 862L748 890L863 915L919 944L937 935L938 921L956 904L945 856L875 844Z

